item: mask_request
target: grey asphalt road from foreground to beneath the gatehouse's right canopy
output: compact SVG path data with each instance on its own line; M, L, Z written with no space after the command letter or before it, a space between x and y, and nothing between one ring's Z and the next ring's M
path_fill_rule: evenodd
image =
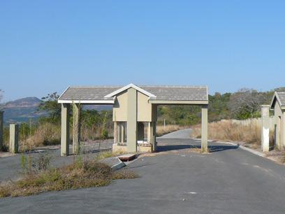
M209 143L205 155L191 152L196 140L158 145L127 166L140 178L0 199L0 213L285 213L285 166L233 145Z

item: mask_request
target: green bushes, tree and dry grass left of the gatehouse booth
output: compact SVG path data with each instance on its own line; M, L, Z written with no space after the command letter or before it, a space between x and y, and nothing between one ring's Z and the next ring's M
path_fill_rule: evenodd
M61 137L61 105L57 104L57 93L43 97L38 111L48 113L38 121L20 124L20 151L32 150L38 146L59 145ZM73 115L70 111L70 136L72 141ZM94 141L113 137L111 110L82 110L81 140ZM9 127L4 127L3 141L8 150Z

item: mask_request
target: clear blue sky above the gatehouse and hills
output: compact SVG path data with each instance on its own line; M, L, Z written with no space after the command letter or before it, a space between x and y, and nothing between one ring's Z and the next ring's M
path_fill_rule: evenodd
M0 1L4 101L68 85L285 86L285 1Z

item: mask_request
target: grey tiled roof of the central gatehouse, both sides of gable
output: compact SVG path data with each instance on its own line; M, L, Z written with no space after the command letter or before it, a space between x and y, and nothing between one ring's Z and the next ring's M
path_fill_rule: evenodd
M150 99L159 101L207 101L206 86L138 86L143 90L154 94L156 97ZM68 87L61 94L59 100L112 100L112 97L106 98L107 94L115 92L122 87Z

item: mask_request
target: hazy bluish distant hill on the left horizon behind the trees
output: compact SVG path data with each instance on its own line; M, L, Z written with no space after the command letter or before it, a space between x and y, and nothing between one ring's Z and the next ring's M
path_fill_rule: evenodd
M37 97L26 97L9 101L3 104L1 108L4 109L4 123L9 124L13 122L29 122L29 120L36 121L39 117L46 116L45 112L38 112L38 105L43 102ZM91 110L110 110L112 106L83 106L83 109Z

